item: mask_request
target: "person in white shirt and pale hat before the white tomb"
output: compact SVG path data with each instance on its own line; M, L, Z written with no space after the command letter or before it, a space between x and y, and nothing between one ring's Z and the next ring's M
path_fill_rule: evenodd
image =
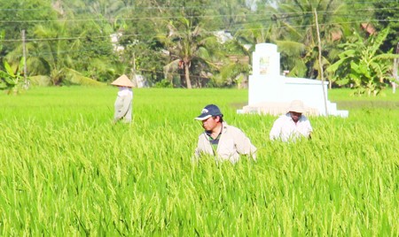
M274 122L270 131L270 140L295 141L301 137L310 139L313 129L303 112L305 112L303 103L294 100L288 112Z

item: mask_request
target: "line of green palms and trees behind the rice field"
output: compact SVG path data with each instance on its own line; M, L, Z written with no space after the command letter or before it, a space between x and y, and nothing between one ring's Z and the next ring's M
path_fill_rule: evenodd
M394 80L398 0L0 0L0 5L1 88L19 84L22 76L36 84L67 85L108 82L122 73L144 75L161 87L242 86L254 45L261 42L278 44L282 70L290 76L320 79L315 11L330 85L378 93ZM21 69L25 61L27 75Z

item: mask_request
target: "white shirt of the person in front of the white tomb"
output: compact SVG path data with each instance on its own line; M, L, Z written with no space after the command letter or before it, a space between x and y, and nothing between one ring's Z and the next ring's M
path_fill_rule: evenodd
M308 138L312 131L313 128L306 116L301 115L301 118L295 123L288 112L274 122L270 130L270 140L295 141L301 136Z

